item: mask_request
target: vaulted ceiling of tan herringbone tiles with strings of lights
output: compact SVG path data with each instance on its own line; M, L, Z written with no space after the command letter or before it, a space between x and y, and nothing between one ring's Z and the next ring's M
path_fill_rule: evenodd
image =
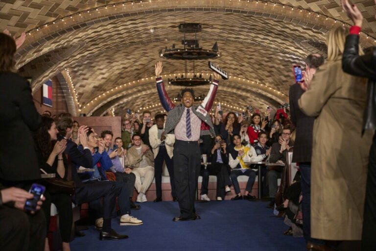
M288 100L291 66L303 64L312 52L325 55L328 30L349 23L338 3L2 0L0 28L30 32L17 63L22 74L33 77L34 91L48 77L64 72L81 113L102 115L114 108L122 115L125 107L136 110L154 104L152 111L162 110L152 78L154 64L160 60L158 51L180 44L179 24L200 23L200 46L210 49L217 41L222 56L213 61L232 76L220 82L216 100L229 109L251 104L264 110ZM369 47L375 44L375 3L361 0L357 6L367 32L361 34L361 41ZM165 80L184 72L184 62L163 62ZM192 72L188 62L188 73ZM195 73L209 72L207 61L195 62ZM176 97L179 89L171 86L167 91ZM208 89L197 87L196 93L206 94Z

